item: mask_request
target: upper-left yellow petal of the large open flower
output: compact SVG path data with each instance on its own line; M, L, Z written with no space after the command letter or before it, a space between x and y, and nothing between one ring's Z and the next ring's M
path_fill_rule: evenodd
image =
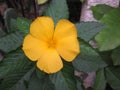
M50 17L38 17L30 25L30 34L40 40L52 38L54 32L54 22Z

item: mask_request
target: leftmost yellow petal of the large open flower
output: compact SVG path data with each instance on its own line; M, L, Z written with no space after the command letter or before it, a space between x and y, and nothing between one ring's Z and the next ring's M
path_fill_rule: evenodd
M44 52L46 52L47 48L48 47L45 42L28 34L24 39L22 49L30 60L36 61Z

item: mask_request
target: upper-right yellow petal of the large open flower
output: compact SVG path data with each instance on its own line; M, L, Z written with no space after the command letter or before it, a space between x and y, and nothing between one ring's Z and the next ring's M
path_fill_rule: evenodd
M56 25L54 38L58 40L69 36L77 37L75 25L68 20L60 20Z

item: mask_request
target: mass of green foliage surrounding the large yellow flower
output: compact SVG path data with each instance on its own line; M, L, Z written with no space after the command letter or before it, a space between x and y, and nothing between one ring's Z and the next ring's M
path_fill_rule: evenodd
M0 90L84 90L82 80L74 75L75 70L96 72L93 90L105 90L107 83L113 90L119 90L120 8L98 5L91 9L100 22L75 24L81 52L72 63L63 60L63 69L55 74L40 71L36 62L24 55L21 46L32 20L18 17L15 10L8 9L5 13L6 28L0 31L0 51L4 54L0 62ZM52 0L44 15L51 16L55 24L60 19L68 19L66 0ZM97 49L89 44L91 40L98 44ZM112 60L112 64L106 63L106 59Z

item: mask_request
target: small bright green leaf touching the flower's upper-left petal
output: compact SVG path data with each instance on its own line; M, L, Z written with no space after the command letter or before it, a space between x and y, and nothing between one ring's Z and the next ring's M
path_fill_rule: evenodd
M17 18L17 26L21 32L24 34L28 34L30 31L30 24L32 23L31 20L23 17L18 17Z

